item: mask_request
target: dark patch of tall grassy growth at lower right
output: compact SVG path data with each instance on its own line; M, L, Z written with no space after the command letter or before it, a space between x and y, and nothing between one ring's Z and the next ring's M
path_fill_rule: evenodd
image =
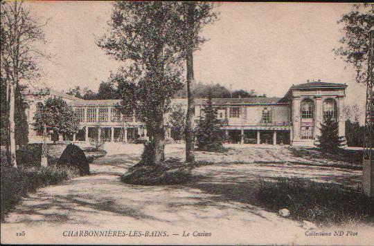
M272 211L289 209L291 218L317 225L368 223L374 225L374 198L356 189L301 178L262 181L258 198Z

